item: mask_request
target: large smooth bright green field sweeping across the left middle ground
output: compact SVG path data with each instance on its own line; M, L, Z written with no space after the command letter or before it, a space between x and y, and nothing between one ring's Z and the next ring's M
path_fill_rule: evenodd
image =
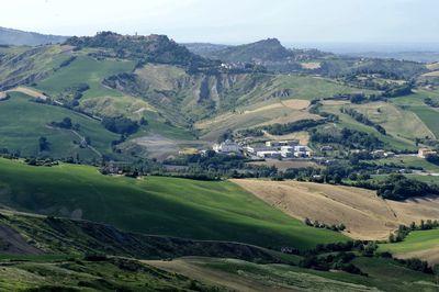
M92 167L30 167L0 159L0 186L3 205L145 234L277 248L311 248L347 239L307 227L227 181L105 177Z

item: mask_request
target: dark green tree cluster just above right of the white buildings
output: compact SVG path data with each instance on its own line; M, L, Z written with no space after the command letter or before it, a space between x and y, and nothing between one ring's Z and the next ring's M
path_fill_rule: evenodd
M325 130L312 131L309 139L313 143L319 144L339 144L350 149L365 148L373 150L384 145L374 135L347 127L337 132L326 132Z

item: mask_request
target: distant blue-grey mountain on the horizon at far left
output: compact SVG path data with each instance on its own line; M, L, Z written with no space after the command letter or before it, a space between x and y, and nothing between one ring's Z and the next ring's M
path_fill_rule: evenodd
M68 36L23 32L0 27L0 45L37 46L45 44L63 43Z

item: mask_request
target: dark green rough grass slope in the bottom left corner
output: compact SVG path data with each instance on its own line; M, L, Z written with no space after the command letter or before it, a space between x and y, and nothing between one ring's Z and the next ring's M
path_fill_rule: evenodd
M189 278L126 259L3 266L1 291L214 291ZM221 291L221 290L215 290Z

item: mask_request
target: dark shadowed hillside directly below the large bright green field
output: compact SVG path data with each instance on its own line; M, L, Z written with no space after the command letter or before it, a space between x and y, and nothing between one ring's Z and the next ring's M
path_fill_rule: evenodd
M296 257L245 244L128 233L106 224L12 211L0 214L0 259L108 255L137 259L203 256L290 262Z

